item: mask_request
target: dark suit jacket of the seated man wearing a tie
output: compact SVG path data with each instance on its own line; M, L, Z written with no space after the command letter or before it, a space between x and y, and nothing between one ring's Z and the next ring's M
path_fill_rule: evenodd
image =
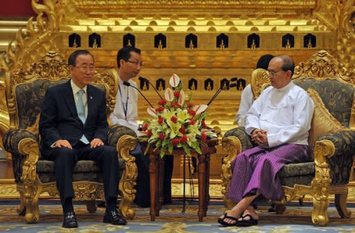
M51 151L51 145L66 139L76 146L81 136L92 141L94 138L107 141L107 116L105 93L92 85L87 85L87 118L85 124L80 121L71 89L70 80L46 91L40 116L40 134L42 153Z

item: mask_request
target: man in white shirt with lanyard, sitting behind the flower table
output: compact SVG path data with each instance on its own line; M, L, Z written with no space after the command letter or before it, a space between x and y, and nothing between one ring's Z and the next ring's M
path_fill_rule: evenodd
M143 62L141 51L132 46L125 46L117 52L117 74L119 75L119 91L116 94L116 105L114 112L110 114L110 121L114 124L126 126L138 133L138 91L137 83L132 80L138 76ZM128 87L123 82L130 83ZM140 207L150 206L150 182L149 182L149 159L148 156L141 152L141 146L137 143L135 149L130 151L135 157L135 163L138 169L137 190L134 202Z

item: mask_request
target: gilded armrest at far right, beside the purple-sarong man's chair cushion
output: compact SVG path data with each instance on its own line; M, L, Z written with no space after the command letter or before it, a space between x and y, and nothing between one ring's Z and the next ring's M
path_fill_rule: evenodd
M318 171L329 171L330 184L347 184L355 151L355 131L347 130L322 135L314 149ZM316 170L317 171L317 170Z

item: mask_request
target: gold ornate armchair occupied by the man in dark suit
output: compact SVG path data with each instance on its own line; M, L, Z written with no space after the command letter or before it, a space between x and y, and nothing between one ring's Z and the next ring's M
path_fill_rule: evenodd
M28 64L27 64L28 65ZM25 67L25 66L23 66ZM10 113L10 130L3 137L3 145L12 155L12 166L21 196L19 214L28 223L39 220L38 198L47 192L51 198L58 197L55 186L54 162L40 154L38 121L46 89L66 82L69 77L67 62L56 52L48 52L29 68L6 74L6 98ZM114 69L96 74L93 85L103 89L107 96L107 114L114 108L118 89L118 77ZM137 166L129 151L137 143L135 132L123 126L112 126L108 132L108 144L119 151L121 180L119 210L125 218L133 218L135 210L130 207L135 198ZM103 194L100 169L93 161L79 161L73 171L74 200L87 200L89 212L96 210L93 200Z

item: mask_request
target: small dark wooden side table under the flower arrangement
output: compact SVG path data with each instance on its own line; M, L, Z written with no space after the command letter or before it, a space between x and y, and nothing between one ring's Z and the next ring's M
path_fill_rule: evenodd
M146 148L147 142L140 140L142 148ZM209 202L209 161L211 154L216 153L218 138L207 139L202 142L202 155L191 150L191 156L198 157L198 221L202 222L207 216ZM149 155L149 178L150 178L150 221L155 221L163 204L163 182L164 182L164 159L160 158L160 150L155 150L150 145ZM172 155L166 151L165 156L180 156L185 152L182 148L174 148Z

